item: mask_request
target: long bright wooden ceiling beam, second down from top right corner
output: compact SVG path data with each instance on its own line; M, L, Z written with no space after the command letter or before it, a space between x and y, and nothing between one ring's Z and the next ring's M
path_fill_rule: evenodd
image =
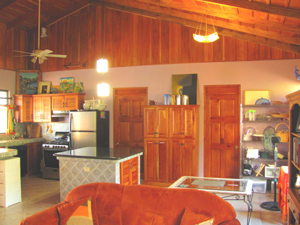
M97 3L99 4L99 2L101 2L100 0L90 0L90 1L91 1L91 3L95 3L95 4L97 4ZM120 3L119 0L105 0L105 2L115 3L118 5L122 4L122 5L125 5L128 7L146 9L146 10L150 10L150 11L154 11L155 9L157 10L157 5L158 5L158 6L161 6L159 10L162 14L166 13L167 10L174 13L174 11L172 9L176 9L175 10L176 12L187 11L186 14L187 13L205 14L205 15L210 15L212 17L229 19L229 20L236 21L236 22L263 26L265 29L277 29L277 30L281 30L281 31L294 32L294 33L300 34L300 27L298 27L297 25L292 25L292 24L287 24L287 23L282 24L282 23L278 23L277 21L265 20L265 19L262 19L259 17L245 18L245 17L239 16L238 14L234 15L232 13L224 13L223 11L217 10L217 9L211 10L210 8L207 8L207 7L191 6L188 4L174 2L174 1L165 3L166 0L161 0L160 2L158 2L156 4L156 6L153 6L152 0L143 0L143 3L148 3L148 5L142 4L142 3L137 3L135 1L124 1L124 2ZM147 7L147 8L145 8L145 7ZM178 9L180 9L180 10L178 10Z

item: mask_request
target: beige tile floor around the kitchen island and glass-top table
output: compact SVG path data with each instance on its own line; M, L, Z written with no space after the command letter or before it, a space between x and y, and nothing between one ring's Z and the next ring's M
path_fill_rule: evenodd
M262 209L261 202L273 201L273 194L254 194L252 225L287 224L282 222L281 212ZM22 177L22 203L7 208L0 207L0 225L18 225L19 222L34 213L60 202L59 181L42 179L38 176ZM247 221L247 205L243 201L229 201L237 212L241 224Z

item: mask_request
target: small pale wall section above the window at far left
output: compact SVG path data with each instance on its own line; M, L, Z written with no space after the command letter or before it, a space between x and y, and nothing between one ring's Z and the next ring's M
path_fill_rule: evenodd
M9 97L13 97L16 93L16 71L0 69L0 89L8 90Z

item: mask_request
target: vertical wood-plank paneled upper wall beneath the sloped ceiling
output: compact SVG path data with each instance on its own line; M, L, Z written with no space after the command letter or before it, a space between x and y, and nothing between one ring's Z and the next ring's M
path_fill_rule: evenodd
M109 67L300 58L300 54L224 36L202 44L193 40L193 32L194 28L105 8L103 56ZM102 7L90 5L73 13L48 26L47 33L41 49L67 58L48 58L42 71L95 68L102 57ZM5 34L5 45L1 34ZM13 57L13 50L36 49L37 33L26 36L0 24L0 41L0 68L39 69L30 57Z

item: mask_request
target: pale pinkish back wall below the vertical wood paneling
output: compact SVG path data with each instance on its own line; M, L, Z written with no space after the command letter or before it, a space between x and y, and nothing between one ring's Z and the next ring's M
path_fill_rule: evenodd
M203 86L240 84L242 99L244 90L268 89L271 100L286 101L287 94L300 89L300 82L293 74L295 66L300 66L299 59L110 68L104 77L105 83L110 85L110 95L101 98L107 99L106 110L111 112L110 146L113 146L113 88L148 87L148 99L162 104L163 95L171 93L173 74L197 73L198 104L201 105L199 171L203 175ZM86 99L97 99L96 85L103 81L103 76L95 69L45 72L42 80L58 85L61 77L74 77L75 82L83 82Z

